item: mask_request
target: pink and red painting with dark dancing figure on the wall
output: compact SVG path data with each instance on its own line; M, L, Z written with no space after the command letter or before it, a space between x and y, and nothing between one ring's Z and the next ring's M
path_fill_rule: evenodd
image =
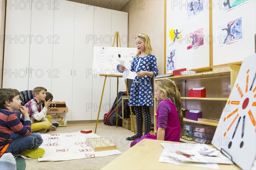
M204 28L199 28L187 34L187 50L204 45Z

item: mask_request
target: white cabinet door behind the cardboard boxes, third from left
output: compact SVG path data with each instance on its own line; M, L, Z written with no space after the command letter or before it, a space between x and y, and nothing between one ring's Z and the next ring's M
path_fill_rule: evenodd
M52 95L54 101L66 102L71 120L75 3L55 1L52 52ZM79 95L79 94L78 94Z

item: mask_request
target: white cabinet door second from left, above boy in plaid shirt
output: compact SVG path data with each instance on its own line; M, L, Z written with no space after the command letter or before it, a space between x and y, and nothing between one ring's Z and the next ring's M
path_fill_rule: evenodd
M51 92L54 0L34 0L31 17L29 90L42 86ZM55 38L56 39L56 38Z

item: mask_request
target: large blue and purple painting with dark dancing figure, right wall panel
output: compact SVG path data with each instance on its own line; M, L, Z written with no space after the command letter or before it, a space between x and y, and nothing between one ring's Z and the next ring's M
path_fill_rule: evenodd
M243 39L242 18L232 20L217 27L217 43L218 46L236 42Z

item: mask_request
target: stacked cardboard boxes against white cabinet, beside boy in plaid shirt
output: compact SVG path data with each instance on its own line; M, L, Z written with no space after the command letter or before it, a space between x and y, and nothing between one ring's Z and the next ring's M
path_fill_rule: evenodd
M52 102L47 114L52 116L52 123L58 122L59 126L67 126L68 108L65 102Z

